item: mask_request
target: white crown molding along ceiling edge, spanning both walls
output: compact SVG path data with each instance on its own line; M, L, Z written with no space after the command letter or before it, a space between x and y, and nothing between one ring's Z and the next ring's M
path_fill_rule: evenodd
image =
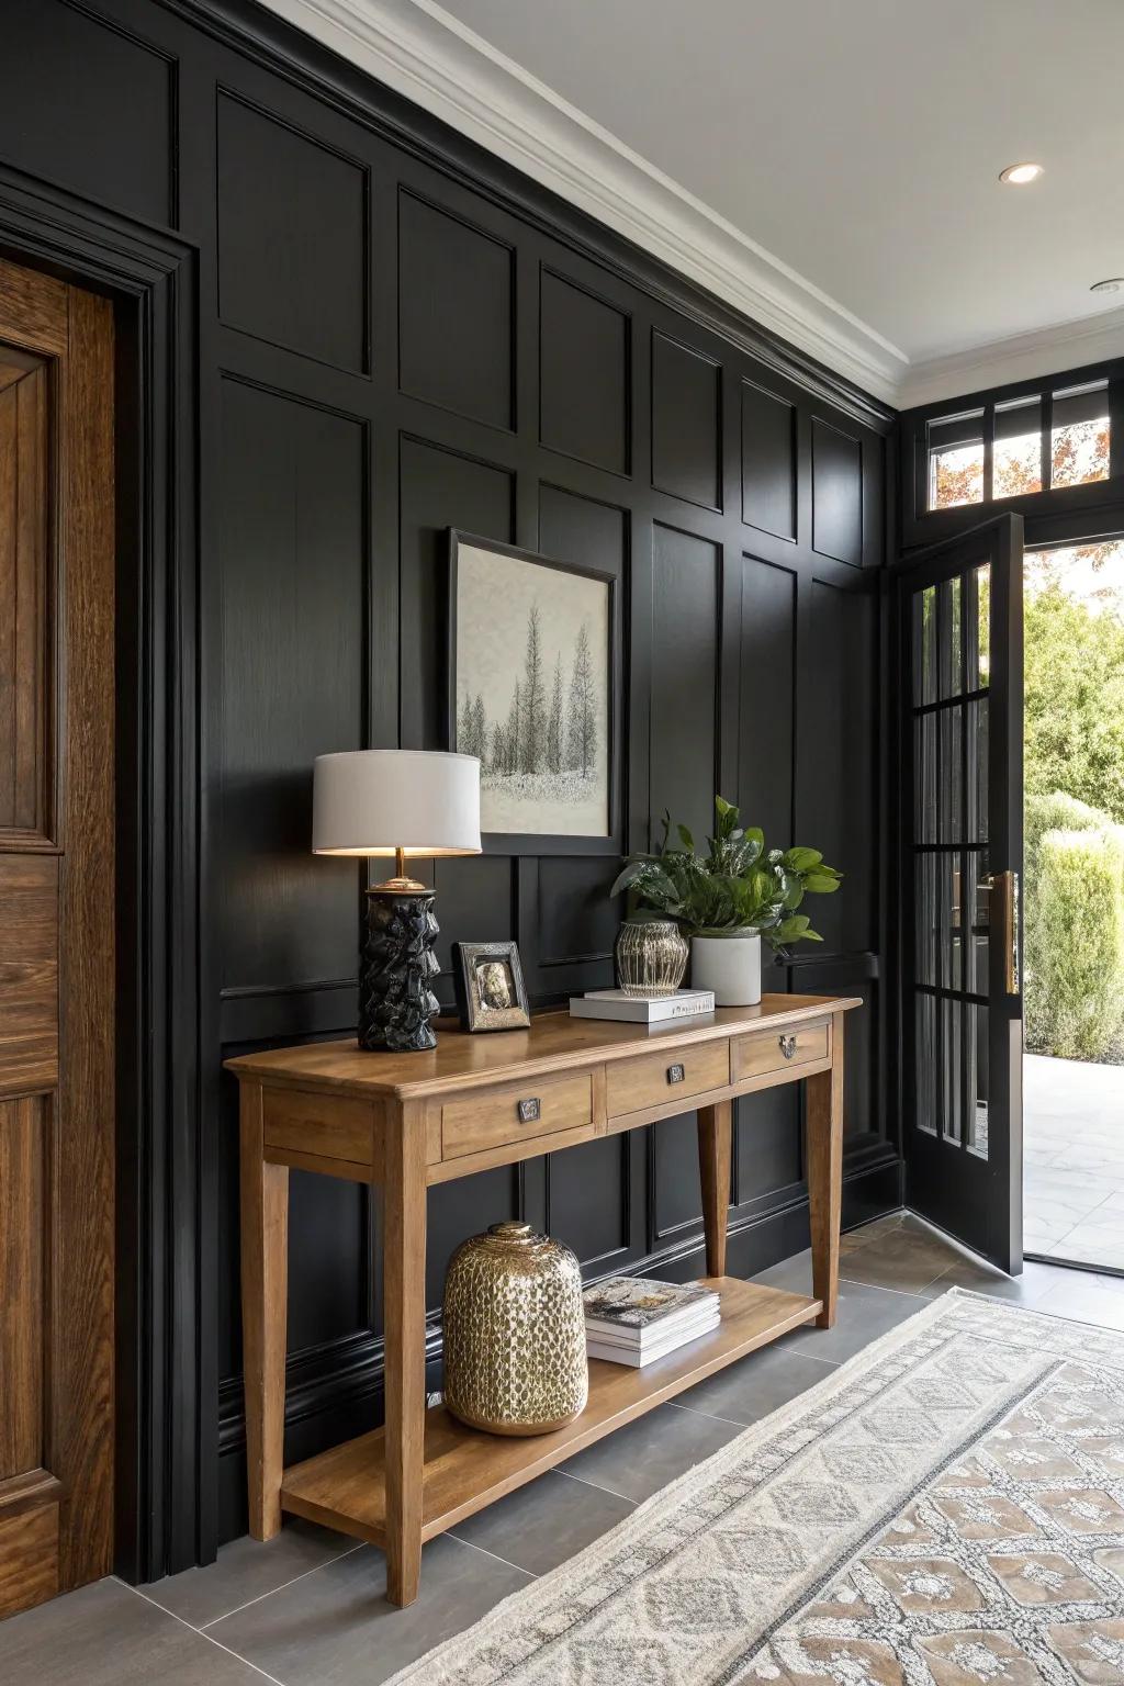
M271 12L898 408L1124 352L1124 310L912 364L435 0L265 0Z

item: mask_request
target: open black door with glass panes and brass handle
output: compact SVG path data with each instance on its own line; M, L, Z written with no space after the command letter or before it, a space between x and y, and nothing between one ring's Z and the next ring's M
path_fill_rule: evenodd
M898 573L908 1204L1023 1268L1023 521Z

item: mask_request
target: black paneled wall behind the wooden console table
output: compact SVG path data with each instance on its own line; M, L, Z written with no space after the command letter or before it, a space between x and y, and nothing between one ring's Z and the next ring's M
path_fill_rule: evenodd
M201 1374L219 1383L199 1403L199 1480L219 1492L199 1522L207 1554L207 1512L219 1536L243 1519L238 1108L221 1064L352 1028L361 868L308 853L310 765L364 744L445 745L448 526L620 580L629 845L664 808L704 833L720 787L773 843L812 843L846 872L816 905L824 946L768 985L864 998L849 1020L848 1209L891 1197L878 1081L888 418L511 172L438 145L433 125L411 128L357 72L312 54L337 98L276 74L216 5L3 12L3 164L96 216L174 229L197 255L199 1236L217 1249L201 1264L199 1330ZM298 61L297 37L268 27ZM443 1001L455 937L517 937L538 1005L608 985L613 867L588 853L440 865ZM735 1268L804 1244L802 1199L799 1098L741 1101ZM693 1116L435 1189L435 1310L452 1248L516 1212L591 1273L696 1273ZM290 1457L379 1409L376 1227L362 1190L293 1173Z

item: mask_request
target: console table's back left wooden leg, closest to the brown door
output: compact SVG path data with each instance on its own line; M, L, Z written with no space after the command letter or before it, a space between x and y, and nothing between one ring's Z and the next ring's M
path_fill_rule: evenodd
M281 1528L288 1167L266 1165L261 1084L241 1087L243 1371L249 1533Z

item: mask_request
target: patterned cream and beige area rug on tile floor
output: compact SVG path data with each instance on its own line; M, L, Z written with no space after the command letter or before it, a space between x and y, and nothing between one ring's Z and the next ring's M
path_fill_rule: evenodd
M1124 1683L1124 1335L957 1290L394 1686Z

